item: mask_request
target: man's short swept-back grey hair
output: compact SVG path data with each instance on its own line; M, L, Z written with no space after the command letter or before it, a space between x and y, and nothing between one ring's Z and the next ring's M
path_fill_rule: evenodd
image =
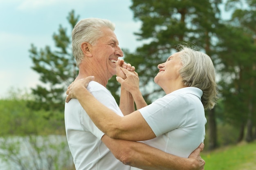
M109 20L99 18L86 18L80 20L74 26L72 31L72 52L78 68L84 57L83 51L81 50L81 44L83 42L88 42L91 45L95 45L97 40L103 36L103 27L108 27L112 31L115 31L115 24Z

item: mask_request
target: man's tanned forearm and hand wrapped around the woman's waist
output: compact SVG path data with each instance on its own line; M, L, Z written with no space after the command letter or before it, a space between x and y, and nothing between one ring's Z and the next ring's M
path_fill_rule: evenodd
M122 163L144 170L204 170L205 161L200 157L201 144L189 158L177 157L141 142L111 139L107 135L101 141Z

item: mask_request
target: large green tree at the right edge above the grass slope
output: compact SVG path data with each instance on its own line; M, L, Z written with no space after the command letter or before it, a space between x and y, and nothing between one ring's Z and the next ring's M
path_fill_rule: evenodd
M256 1L229 0L226 9L232 11L231 20L225 25L220 38L222 60L223 97L226 117L240 126L238 142L252 141L255 113L256 60ZM228 78L227 78L228 77ZM255 125L254 125L255 126Z

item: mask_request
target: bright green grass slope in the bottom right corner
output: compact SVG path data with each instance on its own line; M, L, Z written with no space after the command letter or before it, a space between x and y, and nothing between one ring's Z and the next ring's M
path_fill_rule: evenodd
M256 170L256 141L202 152L204 170Z

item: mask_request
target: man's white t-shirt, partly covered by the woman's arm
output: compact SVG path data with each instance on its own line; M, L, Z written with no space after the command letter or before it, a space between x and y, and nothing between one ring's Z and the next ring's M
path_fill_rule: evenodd
M99 102L123 116L115 98L104 86L90 82L87 89ZM76 170L130 170L130 166L117 160L103 144L104 133L94 125L77 99L65 103L65 128Z

